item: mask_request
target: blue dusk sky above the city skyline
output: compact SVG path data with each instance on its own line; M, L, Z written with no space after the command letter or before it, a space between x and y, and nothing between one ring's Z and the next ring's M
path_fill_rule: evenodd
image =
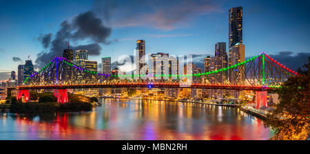
M216 42L228 42L228 10L236 6L243 8L246 57L265 51L275 56L285 53L299 61L300 66L307 62L309 1L1 0L0 80L7 79L11 70L17 71L21 62L12 61L13 57L19 57L24 63L28 55L36 61L38 53L50 52L50 47L43 48L38 39L40 35L51 33L54 39L63 21L73 25L75 17L87 11L94 12L104 27L111 28L110 35L105 37L109 44L89 36L72 39L70 44L99 44L100 52L89 57L99 63L104 56L116 61L120 55L133 55L137 39L145 39L147 54L214 55Z

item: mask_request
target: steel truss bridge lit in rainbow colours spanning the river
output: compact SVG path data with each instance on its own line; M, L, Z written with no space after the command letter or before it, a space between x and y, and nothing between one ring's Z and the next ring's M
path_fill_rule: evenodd
M282 82L296 75L298 73L265 52L234 66L207 73L152 75L154 78L161 76L161 79L141 79L149 75L106 75L77 66L63 57L55 57L39 72L26 78L23 86L17 86L17 98L21 98L21 95L29 97L29 90L54 89L55 97L64 103L68 102L68 98L62 97L67 97L69 88L205 88L254 90L256 95L261 95L260 92L266 92L267 95L266 90L282 88ZM187 82L189 78L192 78L192 83ZM261 99L267 105L265 94Z

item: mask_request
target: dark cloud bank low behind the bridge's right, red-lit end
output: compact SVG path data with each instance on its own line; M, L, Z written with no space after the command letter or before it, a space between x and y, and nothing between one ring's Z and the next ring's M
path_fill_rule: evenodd
M292 70L297 70L298 68L302 68L304 64L308 64L310 52L298 52L293 55L291 51L281 51L276 55L269 55L276 61L279 61L281 64L284 64L288 68Z

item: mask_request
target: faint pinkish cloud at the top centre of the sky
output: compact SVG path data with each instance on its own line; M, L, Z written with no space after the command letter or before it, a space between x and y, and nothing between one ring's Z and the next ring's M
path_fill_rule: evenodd
M210 0L147 0L114 2L110 10L112 26L147 26L173 30L191 19L210 12L222 12L218 3Z

